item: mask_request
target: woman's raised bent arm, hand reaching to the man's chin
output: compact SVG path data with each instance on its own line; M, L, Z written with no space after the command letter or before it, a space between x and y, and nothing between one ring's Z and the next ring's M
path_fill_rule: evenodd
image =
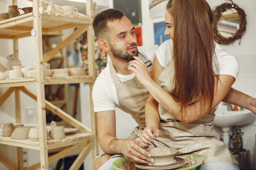
M214 97L212 108L210 108L211 103L208 100L205 100L205 95L201 95L198 102L187 105L183 108L184 114L182 114L181 119L181 104L180 102L176 102L175 99L166 92L161 86L159 86L154 80L148 77L145 72L146 66L145 64L138 58L135 57L136 60L130 62L128 69L132 70L138 81L143 84L149 93L156 99L156 101L164 107L164 109L168 110L173 116L182 120L183 123L191 123L200 119L205 114L207 114L212 108L216 107L222 99L229 92L231 85L234 83L235 78L231 75L219 75L215 77L215 89L214 89Z

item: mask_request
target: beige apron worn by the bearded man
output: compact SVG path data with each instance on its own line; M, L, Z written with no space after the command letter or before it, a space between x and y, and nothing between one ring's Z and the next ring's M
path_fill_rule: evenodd
M144 63L148 61L148 59L144 57L141 53L139 53L138 57ZM148 72L150 74L151 68L152 66L148 67ZM137 133L139 129L143 130L146 127L144 108L149 93L147 89L138 82L136 77L126 82L120 82L111 61L110 73L116 86L117 98L119 105L121 106L121 110L125 111L126 113L129 113L139 125L136 128L134 128L133 132L131 133L131 136L128 138L135 140L137 138Z

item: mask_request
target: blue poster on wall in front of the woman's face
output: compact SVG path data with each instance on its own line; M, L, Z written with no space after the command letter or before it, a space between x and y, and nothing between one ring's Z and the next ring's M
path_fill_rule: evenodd
M166 40L171 39L170 36L164 35L165 28L166 24L164 21L154 23L155 44L160 45Z

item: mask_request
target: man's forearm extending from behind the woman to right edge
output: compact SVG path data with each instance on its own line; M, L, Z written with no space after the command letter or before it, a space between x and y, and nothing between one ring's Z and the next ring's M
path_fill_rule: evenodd
M222 102L234 104L236 106L251 110L254 114L256 114L256 98L237 91L234 88L230 89L229 93L222 100Z

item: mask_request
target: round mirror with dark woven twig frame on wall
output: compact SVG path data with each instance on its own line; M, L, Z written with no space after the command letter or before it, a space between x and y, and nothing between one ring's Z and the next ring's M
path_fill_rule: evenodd
M230 44L245 33L245 11L233 2L216 7L213 15L213 38L218 44Z

